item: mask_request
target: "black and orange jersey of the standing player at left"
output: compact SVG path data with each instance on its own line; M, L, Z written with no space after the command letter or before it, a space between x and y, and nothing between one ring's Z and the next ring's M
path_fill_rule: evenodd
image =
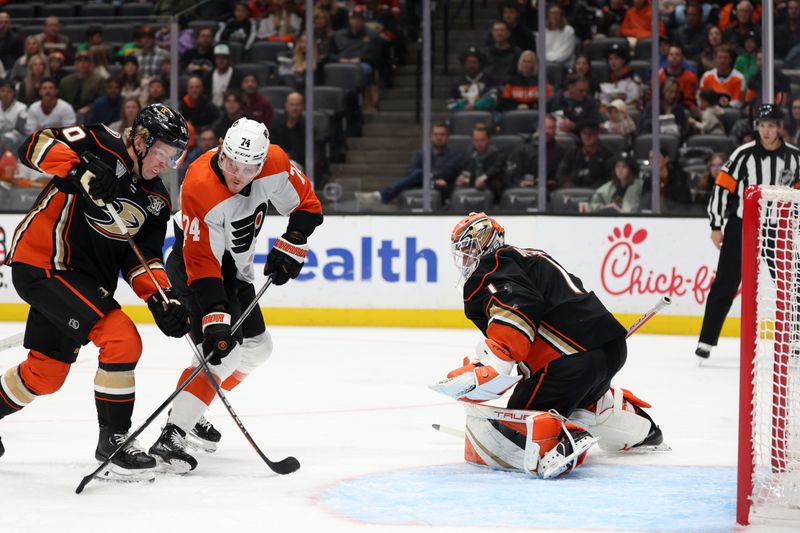
M121 271L136 293L147 298L155 288L124 235L104 208L65 178L84 152L115 171L119 196L113 207L159 282L168 286L162 247L172 210L169 194L160 178L144 180L132 173L134 163L124 141L102 124L47 128L22 143L20 161L53 178L17 226L6 264L82 272L109 292L116 288Z

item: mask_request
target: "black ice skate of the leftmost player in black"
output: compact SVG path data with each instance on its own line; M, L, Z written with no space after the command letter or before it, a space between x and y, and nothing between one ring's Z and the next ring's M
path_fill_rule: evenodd
M95 459L107 460L127 438L128 433L115 432L111 428L101 427L97 449L94 452ZM134 439L120 449L108 466L97 476L108 481L153 481L155 466L156 460L145 453Z

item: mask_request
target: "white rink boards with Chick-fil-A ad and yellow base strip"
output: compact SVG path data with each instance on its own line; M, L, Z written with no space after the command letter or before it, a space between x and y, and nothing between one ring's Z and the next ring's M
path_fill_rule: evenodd
M0 215L0 255L22 215ZM272 324L468 327L456 287L449 236L454 216L327 216L310 239L296 282L262 301ZM702 218L498 216L506 242L550 253L628 325L661 296L672 306L646 331L695 334L716 269L717 250ZM287 220L274 212L257 228L256 284ZM171 251L168 229L165 255ZM0 267L0 318L24 320L25 306ZM118 300L135 320L151 321L125 283ZM739 302L723 334L738 335Z

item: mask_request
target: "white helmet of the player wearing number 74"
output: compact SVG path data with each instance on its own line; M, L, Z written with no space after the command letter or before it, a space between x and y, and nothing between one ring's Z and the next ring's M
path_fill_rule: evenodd
M269 151L269 131L261 122L240 118L228 128L222 142L220 168L244 179L255 178Z

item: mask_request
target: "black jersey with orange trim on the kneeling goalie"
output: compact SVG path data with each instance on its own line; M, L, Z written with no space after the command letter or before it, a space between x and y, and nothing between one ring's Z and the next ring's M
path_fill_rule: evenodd
M464 285L464 314L507 359L536 372L549 362L624 337L597 296L541 250L504 246Z

